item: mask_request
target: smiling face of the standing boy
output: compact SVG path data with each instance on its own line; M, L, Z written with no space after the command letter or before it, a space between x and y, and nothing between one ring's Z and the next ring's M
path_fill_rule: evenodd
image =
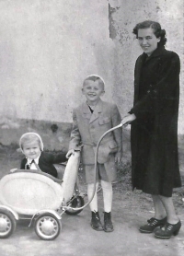
M95 105L98 99L105 93L104 87L99 83L99 80L95 82L86 80L82 92L86 96L87 102L91 105Z

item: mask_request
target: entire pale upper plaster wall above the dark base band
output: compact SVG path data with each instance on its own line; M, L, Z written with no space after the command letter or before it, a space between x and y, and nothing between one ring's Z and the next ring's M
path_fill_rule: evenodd
M184 134L182 0L1 0L0 124L6 117L72 122L90 74L105 79L104 99L126 114L142 53L132 28L148 18L163 25L167 49L181 59L178 133Z

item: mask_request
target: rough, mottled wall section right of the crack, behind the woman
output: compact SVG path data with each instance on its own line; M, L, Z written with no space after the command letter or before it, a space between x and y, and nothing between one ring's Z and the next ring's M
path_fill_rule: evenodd
M183 87L183 1L182 0L109 0L109 37L115 43L114 100L121 113L132 107L133 69L136 58L142 53L132 29L136 23L153 19L167 31L167 49L177 52L181 61L180 108L178 133L184 134Z

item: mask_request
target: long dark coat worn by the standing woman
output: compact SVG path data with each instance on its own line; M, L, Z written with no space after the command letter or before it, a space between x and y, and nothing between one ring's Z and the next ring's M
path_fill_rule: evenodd
M178 170L178 54L159 47L140 55L134 71L132 187L172 195L181 186Z

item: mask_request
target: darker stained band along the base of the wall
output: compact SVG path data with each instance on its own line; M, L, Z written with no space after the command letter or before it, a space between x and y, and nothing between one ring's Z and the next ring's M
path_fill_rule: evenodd
M1 121L3 121L1 119ZM47 122L19 119L10 122L7 119L0 123L0 145L19 148L18 142L22 134L33 132L40 134L44 149L48 151L68 151L72 123ZM122 129L122 162L131 162L130 127ZM179 169L184 174L184 135L178 135Z

